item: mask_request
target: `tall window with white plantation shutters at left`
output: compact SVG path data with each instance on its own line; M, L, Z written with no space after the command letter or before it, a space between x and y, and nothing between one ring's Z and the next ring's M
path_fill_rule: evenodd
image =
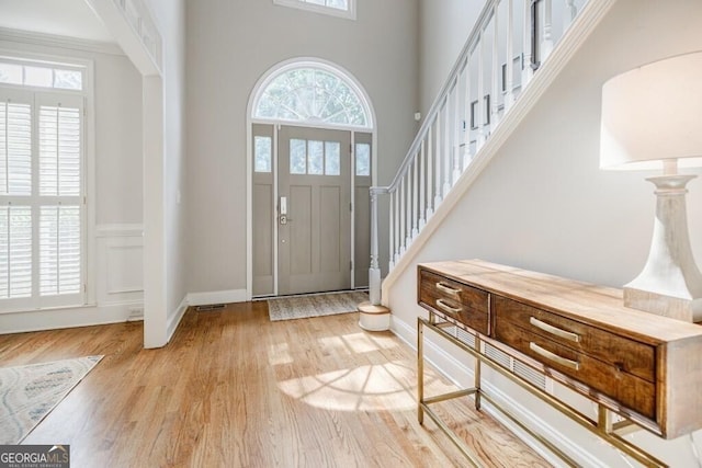
M84 304L83 81L0 58L1 310Z

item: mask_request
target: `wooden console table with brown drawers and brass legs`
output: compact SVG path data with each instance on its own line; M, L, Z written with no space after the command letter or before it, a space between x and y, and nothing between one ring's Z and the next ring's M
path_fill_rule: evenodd
M571 465L558 447L500 408L480 388L486 364L645 466L666 466L621 436L643 427L675 438L702 427L702 327L625 308L621 290L480 260L418 266L417 296L429 311L418 318L418 418L427 413L476 466L479 463L437 416L430 404L474 396L491 402L509 419ZM449 334L458 327L474 336L466 343ZM455 392L423 393L423 329L475 357L475 386ZM598 406L590 419L485 353L485 343L507 353ZM621 416L614 422L613 415Z

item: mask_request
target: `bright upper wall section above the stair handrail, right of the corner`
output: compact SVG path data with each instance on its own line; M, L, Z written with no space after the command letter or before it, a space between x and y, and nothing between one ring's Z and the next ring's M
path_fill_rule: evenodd
M473 31L485 1L420 0L419 57L422 117L441 91L461 49Z

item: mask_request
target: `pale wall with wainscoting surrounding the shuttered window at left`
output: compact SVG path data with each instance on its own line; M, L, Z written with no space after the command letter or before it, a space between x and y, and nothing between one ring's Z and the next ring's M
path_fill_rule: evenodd
M4 52L93 62L94 114L89 111L86 125L92 127L94 153L86 176L95 187L89 199L95 222L88 232L88 242L94 246L87 252L89 305L0 313L0 332L109 323L138 316L144 297L140 76L112 45L32 34L13 36L7 30L1 36L0 49Z

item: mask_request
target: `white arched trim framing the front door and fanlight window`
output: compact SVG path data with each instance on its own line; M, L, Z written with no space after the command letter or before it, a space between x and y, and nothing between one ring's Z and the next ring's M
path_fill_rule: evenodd
M342 124L329 124L319 122L316 119L308 121L291 121L291 119L279 119L279 118L258 118L253 116L254 109L267 89L267 87L278 77L283 73L296 69L296 68L315 68L327 71L330 75L341 79L341 81L347 84L359 98L359 101L364 107L364 112L366 115L366 125L342 125ZM369 99L369 94L365 92L364 88L361 85L359 80L350 73L344 68L340 67L337 64L333 64L328 60L324 60L315 57L299 57L292 58L284 61L281 61L273 67L271 67L268 71L265 71L259 80L253 85L251 93L249 94L249 103L247 106L247 128L246 128L246 172L247 172L247 187L246 187L246 197L247 197L247 213L246 213L246 225L247 225L247 254L246 254L246 295L247 300L251 300L253 297L253 124L269 124L275 126L275 132L273 133L273 155L278 155L278 126L279 125L299 125L305 127L313 128L324 128L324 129L341 129L351 132L351 137L353 141L353 133L363 132L372 135L372 148L373 152L371 155L371 180L372 185L376 184L376 165L377 158L375 157L376 148L377 148L377 135L376 135L376 118L375 111ZM273 161L276 161L276 158L273 158ZM276 164L276 162L274 162ZM273 168L274 174L274 186L278 191L278 168ZM274 194L278 197L278 193ZM275 198L276 199L276 198ZM278 233L274 230L274 242L278 243ZM275 255L278 256L278 255ZM274 269L278 269L278 258L274 259L273 262ZM278 272L275 272L275 277L278 277Z

